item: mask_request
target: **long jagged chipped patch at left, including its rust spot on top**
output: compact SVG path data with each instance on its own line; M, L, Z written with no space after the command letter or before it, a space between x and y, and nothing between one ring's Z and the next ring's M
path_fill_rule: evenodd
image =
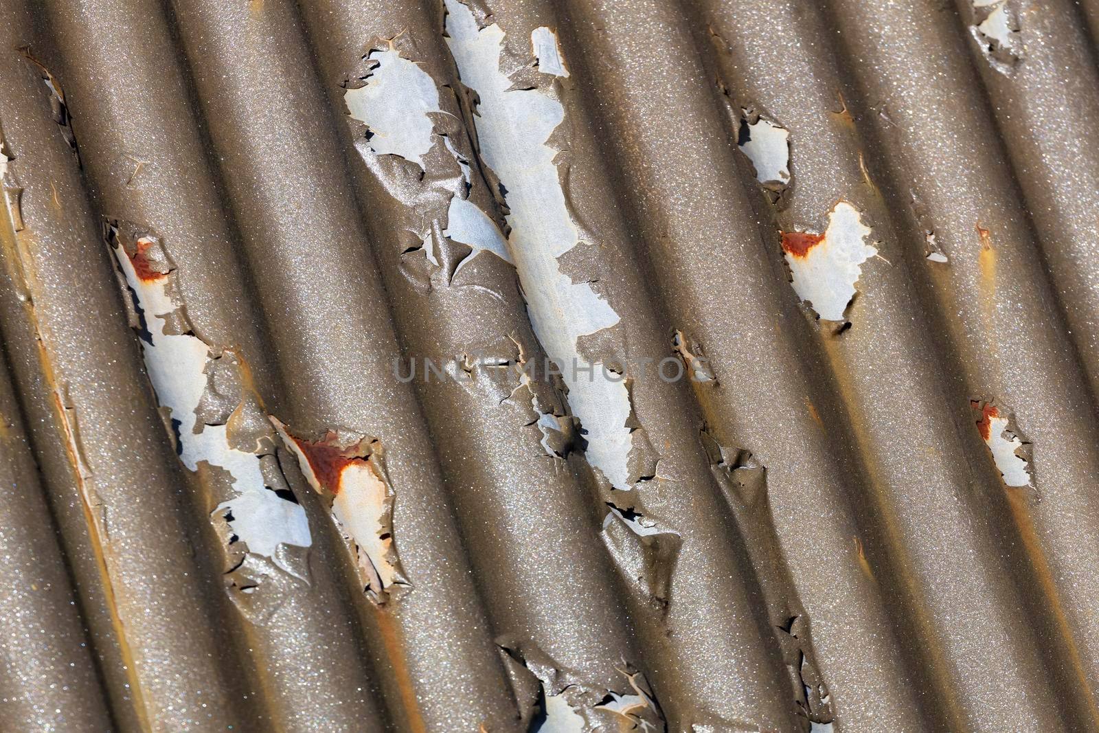
M169 323L182 322L184 314L173 297L173 270L168 263L153 259L158 242L152 235L136 237L132 252L123 245L119 230L109 227L108 241L126 287L140 312L142 354L149 381L162 408L176 429L179 459L189 470L200 464L221 468L230 475L236 497L224 501L211 519L224 518L233 538L249 553L269 557L278 567L300 577L280 556L280 545L309 547L313 544L304 510L281 498L267 485L260 467L264 451L240 451L230 443L232 418L222 424L207 424L198 410L211 379L209 370L223 355L201 338ZM242 409L243 401L234 414Z

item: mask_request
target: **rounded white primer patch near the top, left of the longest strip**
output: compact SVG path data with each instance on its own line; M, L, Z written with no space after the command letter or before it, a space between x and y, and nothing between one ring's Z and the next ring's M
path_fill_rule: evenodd
M347 111L374 133L370 149L399 155L422 169L434 131L428 113L442 111L439 89L423 69L396 49L371 51L368 58L378 66L367 77L366 86L344 93Z

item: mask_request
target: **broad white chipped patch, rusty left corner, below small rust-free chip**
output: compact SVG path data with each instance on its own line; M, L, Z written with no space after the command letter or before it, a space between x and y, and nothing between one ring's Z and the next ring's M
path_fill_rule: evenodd
M855 297L862 264L878 253L866 244L870 229L846 201L829 212L823 234L782 232L782 252L790 267L793 291L809 301L825 321L843 321Z

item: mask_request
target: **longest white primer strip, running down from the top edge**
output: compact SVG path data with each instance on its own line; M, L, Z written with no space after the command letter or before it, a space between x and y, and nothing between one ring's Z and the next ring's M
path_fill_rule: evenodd
M500 73L503 31L495 23L479 30L469 8L445 1L446 43L462 81L480 98L475 122L481 154L508 191L508 248L531 324L546 354L565 373L569 406L586 431L588 462L615 488L628 490L633 437L625 426L630 417L625 385L621 377L606 374L600 363L591 365L591 375L573 368L582 363L577 338L611 327L619 316L590 285L562 274L557 263L579 243L554 165L557 151L545 144L565 110L542 91L509 91L511 81Z

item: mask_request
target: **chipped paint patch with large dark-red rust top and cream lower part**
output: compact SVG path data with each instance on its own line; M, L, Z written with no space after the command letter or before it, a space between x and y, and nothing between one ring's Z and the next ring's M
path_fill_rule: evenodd
M393 546L393 492L379 464L377 441L344 440L332 431L308 441L292 435L277 418L270 421L309 485L331 501L332 519L354 545L368 592L385 602L392 586L408 584Z

